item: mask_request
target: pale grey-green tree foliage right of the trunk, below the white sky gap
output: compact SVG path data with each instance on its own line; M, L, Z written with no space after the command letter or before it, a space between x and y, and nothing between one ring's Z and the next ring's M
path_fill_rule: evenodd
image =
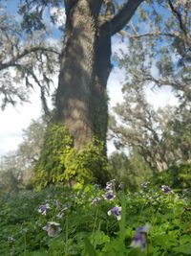
M140 84L124 84L123 93L124 102L114 107L116 116L110 122L117 149L137 150L154 173L189 163L190 108L167 105L155 110Z

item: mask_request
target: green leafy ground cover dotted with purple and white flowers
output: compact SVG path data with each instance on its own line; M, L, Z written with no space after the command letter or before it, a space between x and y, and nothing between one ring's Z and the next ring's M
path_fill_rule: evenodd
M51 186L1 195L0 255L191 255L190 191Z

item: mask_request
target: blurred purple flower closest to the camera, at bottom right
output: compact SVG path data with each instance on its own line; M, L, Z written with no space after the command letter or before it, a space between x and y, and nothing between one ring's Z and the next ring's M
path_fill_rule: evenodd
M146 238L150 227L151 225L149 223L146 223L144 226L138 227L138 229L136 230L136 235L131 244L132 247L139 247L142 250L146 248Z

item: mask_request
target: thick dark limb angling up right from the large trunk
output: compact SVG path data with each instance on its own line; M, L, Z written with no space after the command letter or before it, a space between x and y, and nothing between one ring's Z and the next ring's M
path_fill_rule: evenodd
M110 35L115 35L122 30L143 1L144 0L129 0L110 22L106 22L103 25L104 30L109 31Z

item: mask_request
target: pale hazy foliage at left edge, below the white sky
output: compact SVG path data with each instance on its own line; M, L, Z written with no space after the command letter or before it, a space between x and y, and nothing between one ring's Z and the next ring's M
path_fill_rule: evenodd
M4 190L32 187L32 169L39 159L45 129L43 118L32 120L30 126L23 130L23 141L18 149L1 157L0 180Z

